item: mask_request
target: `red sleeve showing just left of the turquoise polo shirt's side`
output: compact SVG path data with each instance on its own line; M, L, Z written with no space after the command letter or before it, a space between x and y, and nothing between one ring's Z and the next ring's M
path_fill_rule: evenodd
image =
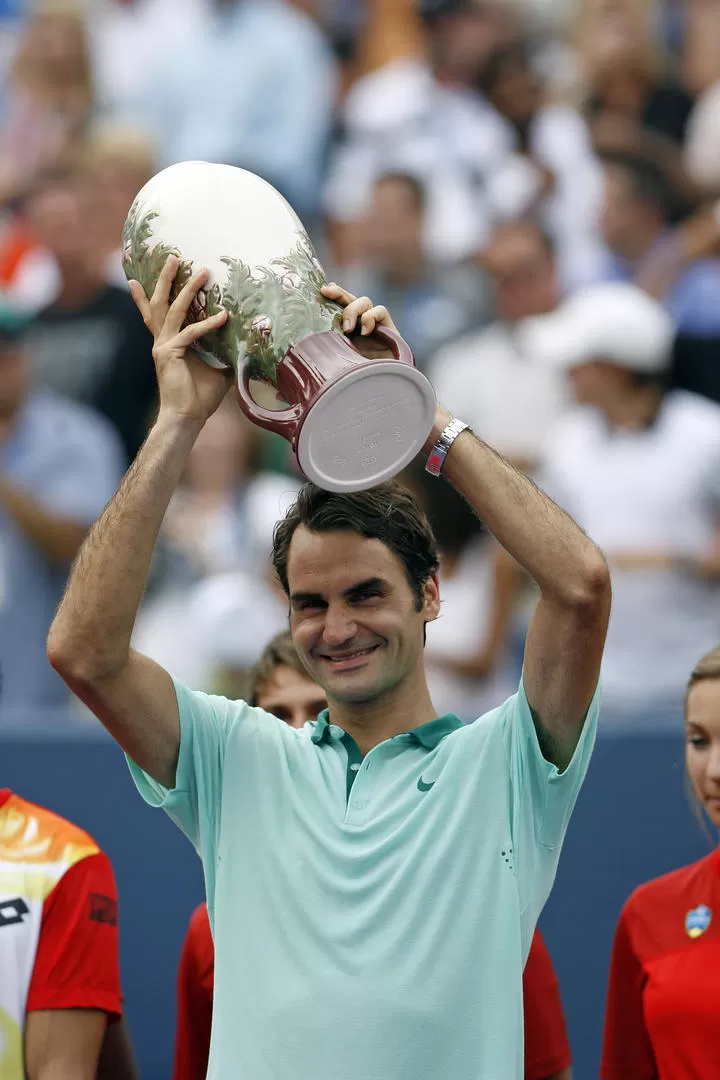
M190 919L177 976L177 1029L173 1080L205 1080L210 1052L215 948L207 906Z

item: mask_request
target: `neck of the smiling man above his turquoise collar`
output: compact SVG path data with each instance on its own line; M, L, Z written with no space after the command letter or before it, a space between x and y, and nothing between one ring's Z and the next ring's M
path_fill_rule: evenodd
M437 713L430 699L424 675L408 687L397 686L377 701L329 704L330 724L337 724L357 743L365 756L373 746L403 731L434 720Z

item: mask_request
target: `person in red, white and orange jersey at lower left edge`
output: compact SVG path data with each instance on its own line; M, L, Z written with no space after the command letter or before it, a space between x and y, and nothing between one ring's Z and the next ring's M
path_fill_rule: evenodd
M0 1078L135 1080L112 866L77 825L0 789Z

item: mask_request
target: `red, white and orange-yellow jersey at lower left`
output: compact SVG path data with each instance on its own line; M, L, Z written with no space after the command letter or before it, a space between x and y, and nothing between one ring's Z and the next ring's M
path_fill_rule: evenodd
M0 1080L39 1009L122 1011L112 866L77 825L0 789Z

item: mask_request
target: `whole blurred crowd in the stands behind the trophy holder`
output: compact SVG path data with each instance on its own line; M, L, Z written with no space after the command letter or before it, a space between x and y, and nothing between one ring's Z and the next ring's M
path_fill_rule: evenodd
M45 633L155 407L120 234L185 159L274 184L328 278L386 303L444 404L587 528L615 592L602 723L675 723L720 640L719 0L3 0L0 726L77 707ZM406 478L443 552L435 703L471 720L516 683L532 588L447 485ZM286 619L269 549L299 483L229 399L138 648L239 692Z

